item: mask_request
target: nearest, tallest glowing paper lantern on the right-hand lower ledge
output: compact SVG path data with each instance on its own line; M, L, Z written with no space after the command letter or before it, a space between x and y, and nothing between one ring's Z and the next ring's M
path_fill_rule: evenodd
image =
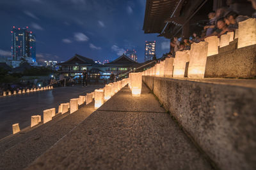
M208 43L201 41L191 45L189 56L188 77L204 78Z

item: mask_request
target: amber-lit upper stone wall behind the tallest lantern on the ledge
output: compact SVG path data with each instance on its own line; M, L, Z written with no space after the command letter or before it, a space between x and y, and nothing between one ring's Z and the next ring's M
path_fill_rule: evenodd
M225 48L225 47L223 47ZM256 45L238 48L207 57L205 77L256 77Z

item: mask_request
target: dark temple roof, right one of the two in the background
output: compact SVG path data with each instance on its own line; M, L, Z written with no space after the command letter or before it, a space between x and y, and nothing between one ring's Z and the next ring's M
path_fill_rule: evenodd
M113 60L112 62L104 64L104 66L138 66L140 65L138 62L130 59L126 55L121 55L117 59Z

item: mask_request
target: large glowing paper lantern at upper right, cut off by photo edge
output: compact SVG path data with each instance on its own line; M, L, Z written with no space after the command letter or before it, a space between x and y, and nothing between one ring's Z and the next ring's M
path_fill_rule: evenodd
M256 18L249 18L238 25L237 48L256 44Z

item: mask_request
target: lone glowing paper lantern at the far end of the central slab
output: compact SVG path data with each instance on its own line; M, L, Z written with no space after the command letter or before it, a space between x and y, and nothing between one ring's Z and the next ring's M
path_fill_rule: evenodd
M142 74L141 73L131 73L132 76L132 96L140 97L141 87L142 87Z

